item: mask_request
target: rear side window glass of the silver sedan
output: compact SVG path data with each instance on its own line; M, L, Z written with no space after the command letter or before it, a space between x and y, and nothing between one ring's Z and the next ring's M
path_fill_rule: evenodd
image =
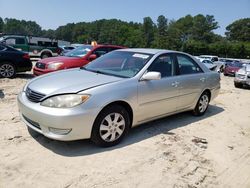
M179 65L179 73L183 74L196 74L201 73L202 70L198 64L186 55L176 55Z

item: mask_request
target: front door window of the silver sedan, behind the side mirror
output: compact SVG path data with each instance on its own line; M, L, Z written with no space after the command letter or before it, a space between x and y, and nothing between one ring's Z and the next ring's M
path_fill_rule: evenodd
M169 54L157 57L154 62L149 66L148 71L160 72L161 77L173 76L174 60Z

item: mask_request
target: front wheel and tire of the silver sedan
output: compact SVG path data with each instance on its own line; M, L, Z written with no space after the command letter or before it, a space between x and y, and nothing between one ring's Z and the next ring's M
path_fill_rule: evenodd
M115 118L118 116L119 118L117 119L117 121L115 121ZM111 120L110 123L107 121L108 117ZM120 121L118 122L118 120ZM118 125L118 123L120 125ZM103 128L105 128L105 130ZM104 108L97 116L92 128L91 140L96 145L101 147L114 146L120 143L124 136L128 134L129 128L130 117L126 109L119 105L108 106ZM118 130L122 130L122 133L120 135L118 133ZM106 140L104 140L104 137L106 136L107 138ZM115 140L112 140L112 138L115 138Z

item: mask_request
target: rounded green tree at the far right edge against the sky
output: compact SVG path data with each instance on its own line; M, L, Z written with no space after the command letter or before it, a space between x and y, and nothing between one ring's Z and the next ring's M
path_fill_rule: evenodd
M250 18L239 19L226 27L229 40L250 42Z

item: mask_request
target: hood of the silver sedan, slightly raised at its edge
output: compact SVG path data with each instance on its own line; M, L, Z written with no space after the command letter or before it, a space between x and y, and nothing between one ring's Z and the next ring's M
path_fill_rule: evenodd
M122 79L124 78L97 74L77 68L39 76L33 79L27 87L45 95L56 95L77 93Z

